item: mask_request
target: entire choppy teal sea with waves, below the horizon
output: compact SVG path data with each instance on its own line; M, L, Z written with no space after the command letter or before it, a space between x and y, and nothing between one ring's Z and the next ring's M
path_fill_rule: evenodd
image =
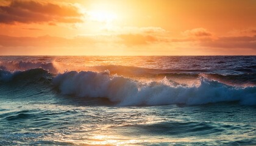
M0 57L0 145L256 145L256 57Z

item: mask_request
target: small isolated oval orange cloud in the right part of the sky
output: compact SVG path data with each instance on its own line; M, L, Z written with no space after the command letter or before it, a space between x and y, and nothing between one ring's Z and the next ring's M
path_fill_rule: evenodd
M199 37L199 38L213 36L211 32L209 32L207 29L204 29L204 28L185 30L185 32L182 32L182 34L185 36Z

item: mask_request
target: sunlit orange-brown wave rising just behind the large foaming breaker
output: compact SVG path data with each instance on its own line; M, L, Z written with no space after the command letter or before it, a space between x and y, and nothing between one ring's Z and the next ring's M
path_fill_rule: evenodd
M255 66L251 66L254 68ZM209 80L216 80L221 83L232 86L255 86L256 73L249 72L244 74L216 74L207 69L152 69L140 68L136 66L120 66L120 65L101 65L101 66L72 66L72 64L62 64L57 61L48 63L33 62L33 61L5 61L0 62L0 70L7 72L27 71L29 69L41 68L51 74L58 74L67 71L94 71L103 72L110 71L110 74L122 75L127 78L171 78L180 79L185 78L196 80L199 77L208 78Z

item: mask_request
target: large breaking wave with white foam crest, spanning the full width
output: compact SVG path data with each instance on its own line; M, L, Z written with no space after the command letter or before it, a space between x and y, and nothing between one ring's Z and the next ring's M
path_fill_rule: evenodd
M218 78L219 75L212 76ZM177 85L166 77L160 82L142 82L120 75L111 75L109 71L70 71L53 75L42 68L16 72L0 70L1 85L6 82L13 84L43 82L48 83L49 88L58 89L63 95L82 98L103 97L118 103L119 106L200 105L217 102L256 105L256 86L241 88L212 80L212 78L199 75L199 85L184 86Z

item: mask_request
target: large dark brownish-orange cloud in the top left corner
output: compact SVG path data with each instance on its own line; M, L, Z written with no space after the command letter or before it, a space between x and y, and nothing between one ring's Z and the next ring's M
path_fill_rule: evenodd
M82 14L71 4L11 0L0 5L0 23L82 23Z

